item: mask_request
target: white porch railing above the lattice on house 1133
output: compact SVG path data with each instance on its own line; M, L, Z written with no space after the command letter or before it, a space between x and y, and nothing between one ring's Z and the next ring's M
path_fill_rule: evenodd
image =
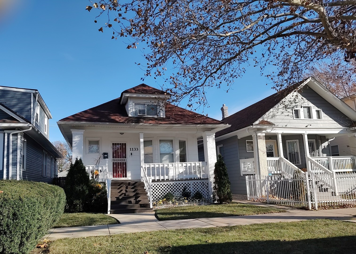
M145 163L143 170L156 181L208 178L206 162Z

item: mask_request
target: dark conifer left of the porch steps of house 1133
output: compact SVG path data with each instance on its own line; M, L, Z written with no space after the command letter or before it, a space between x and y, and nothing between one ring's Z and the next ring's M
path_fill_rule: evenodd
M64 187L67 196L67 212L82 212L84 210L89 185L90 179L83 161L76 158L74 164L70 165Z

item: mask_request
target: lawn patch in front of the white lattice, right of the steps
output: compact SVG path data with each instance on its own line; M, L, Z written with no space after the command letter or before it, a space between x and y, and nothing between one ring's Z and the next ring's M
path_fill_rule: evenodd
M272 207L262 207L232 202L225 205L183 206L158 209L156 210L156 218L160 221L166 221L169 219L226 217L276 212L285 211Z

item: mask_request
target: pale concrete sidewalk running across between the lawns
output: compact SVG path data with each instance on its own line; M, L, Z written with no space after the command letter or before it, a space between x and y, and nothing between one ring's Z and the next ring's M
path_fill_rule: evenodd
M240 201L239 201L240 202ZM251 203L251 202L248 202ZM252 204L252 203L251 203ZM261 203L254 205L268 206ZM274 206L276 207L276 206ZM286 207L283 207L286 209ZM155 213L130 213L110 215L120 221L121 224L85 226L72 228L54 228L48 231L45 238L55 240L59 238L74 238L88 236L106 236L110 234L134 233L143 231L181 229L181 228L209 228L236 225L248 225L269 222L292 222L307 219L336 219L342 221L356 222L356 208L344 208L333 210L305 211L289 209L283 213L269 213L261 215L177 219L172 221L158 221Z

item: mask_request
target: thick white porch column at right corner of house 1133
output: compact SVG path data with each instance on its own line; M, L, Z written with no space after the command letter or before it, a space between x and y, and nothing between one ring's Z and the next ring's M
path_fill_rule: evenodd
M215 132L206 131L203 133L204 158L207 163L206 172L209 178L209 191L213 195L214 168L216 163Z

